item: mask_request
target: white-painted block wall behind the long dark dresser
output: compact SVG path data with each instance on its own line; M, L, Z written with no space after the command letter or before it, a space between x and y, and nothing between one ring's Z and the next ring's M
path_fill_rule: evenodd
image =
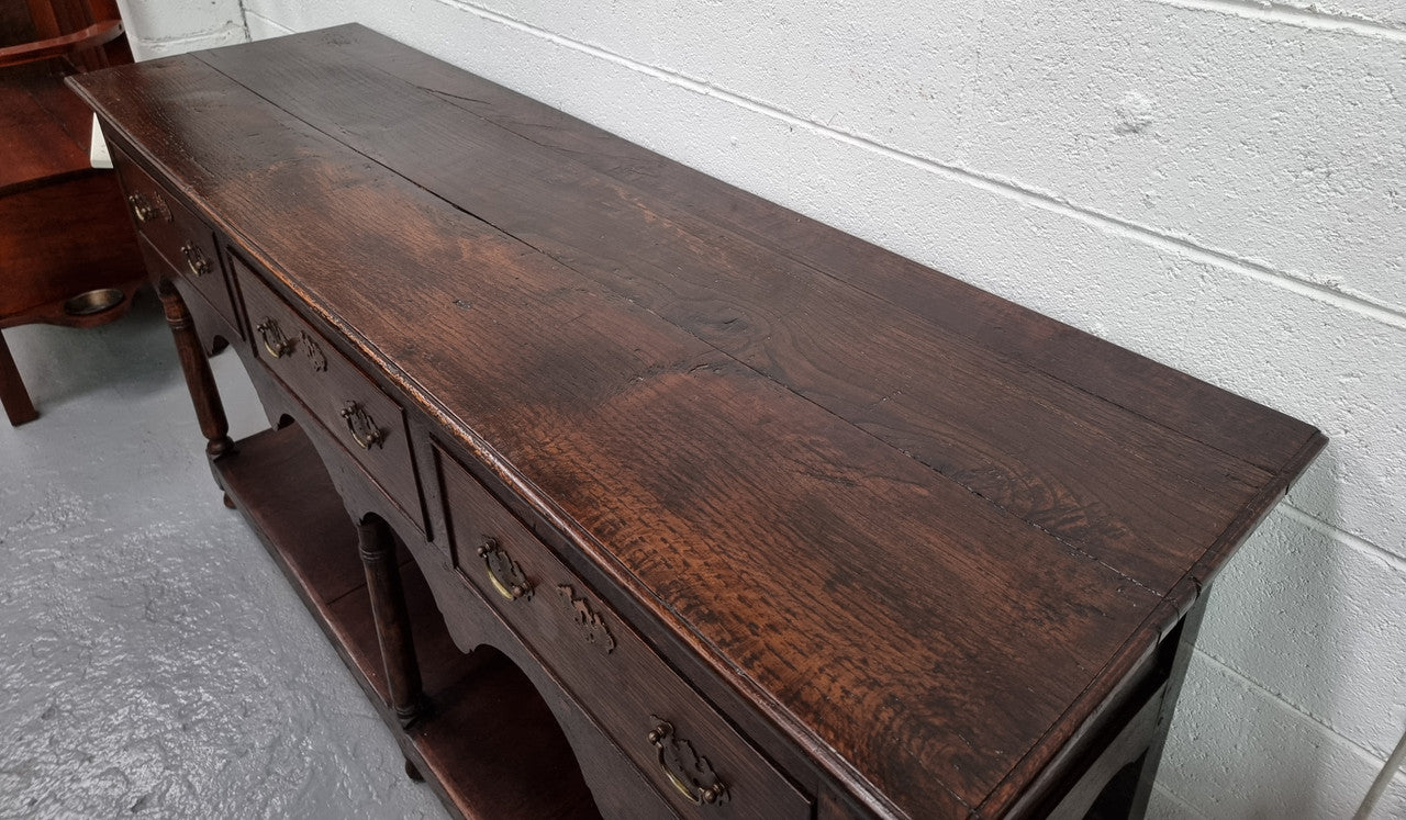
M1331 445L1216 584L1153 813L1353 813L1406 727L1406 6L243 14L254 38L364 22L1320 425ZM1406 816L1406 776L1378 816Z

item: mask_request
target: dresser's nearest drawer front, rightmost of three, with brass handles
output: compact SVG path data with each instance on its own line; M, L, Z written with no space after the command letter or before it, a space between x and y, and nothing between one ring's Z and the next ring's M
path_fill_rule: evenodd
M575 573L436 448L454 567L685 817L810 817L810 800Z

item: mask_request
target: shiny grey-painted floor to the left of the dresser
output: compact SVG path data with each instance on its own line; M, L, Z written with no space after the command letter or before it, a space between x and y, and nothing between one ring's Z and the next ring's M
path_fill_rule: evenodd
M221 504L156 298L6 338L41 416L0 417L0 819L443 817Z

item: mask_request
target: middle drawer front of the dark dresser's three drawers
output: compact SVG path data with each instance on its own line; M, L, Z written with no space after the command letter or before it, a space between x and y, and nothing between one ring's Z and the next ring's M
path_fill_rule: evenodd
M245 296L250 347L283 386L406 517L423 528L405 413L283 298L231 257Z

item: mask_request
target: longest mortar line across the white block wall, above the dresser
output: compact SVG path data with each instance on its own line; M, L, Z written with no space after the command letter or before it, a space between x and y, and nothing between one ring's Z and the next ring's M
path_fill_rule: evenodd
M793 128L803 128L827 139L852 145L862 150L868 150L870 153L880 154L886 159L912 166L918 170L931 173L934 176L939 176L963 185L969 185L990 194L995 194L1007 199L1014 199L1031 208L1039 208L1042 211L1076 219L1091 227L1102 230L1104 233L1108 234L1122 236L1123 239L1129 239L1132 242L1137 242L1140 244L1150 246L1166 253L1177 254L1184 258L1189 258L1192 261L1198 261L1216 268L1229 270L1241 277L1251 278L1268 284L1271 286L1282 288L1285 291L1298 293L1299 296L1305 296L1333 308L1360 313L1362 316L1374 319L1396 330L1406 330L1406 309L1398 309L1395 306L1378 302L1374 298L1361 293L1339 291L1334 288L1329 288L1326 285L1319 285L1316 282L1299 278L1286 271L1281 271L1277 268L1271 268L1268 265L1243 260L1232 254L1227 254L1225 251L1212 250L1201 244L1197 244L1189 239L1182 239L1167 233L1161 233L1150 227L1137 225L1135 222L1128 222L1116 216L1094 211L1091 208L1074 205L1060 197L1033 191L1008 180L991 177L959 166L943 164L936 160L910 154L884 146L882 143L877 143L865 136L849 133L846 131L841 131L830 125L821 125L810 119L803 119L800 117L796 117L794 114L790 114L789 111L783 111L768 102L762 102L737 94L734 91L718 88L717 86L695 80L686 74L681 74L669 69L662 69L659 66L641 63L631 58L606 51L600 46L565 38L558 34L553 34L543 28L537 28L536 25L531 25L529 22L523 22L520 20L503 15L498 11L475 6L468 0L437 0L437 1L444 6L461 8L471 14L482 17L484 20L488 20L491 22L498 22L501 25L522 31L531 37L546 39L548 42L560 45L561 48L567 48L575 52L581 52L619 65L624 69L654 77L657 80L669 83L671 86L678 86L681 88L693 91L696 94L702 94L704 97L717 98L723 102L737 105L738 108L744 108L755 114L761 114L763 117L785 122L786 125L790 125Z

